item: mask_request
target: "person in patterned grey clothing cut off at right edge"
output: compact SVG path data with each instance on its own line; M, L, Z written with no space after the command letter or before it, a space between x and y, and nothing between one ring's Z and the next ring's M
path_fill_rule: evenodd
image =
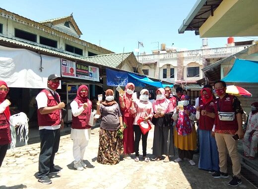
M247 131L243 138L244 156L249 159L255 159L258 151L258 102L251 104L249 113Z

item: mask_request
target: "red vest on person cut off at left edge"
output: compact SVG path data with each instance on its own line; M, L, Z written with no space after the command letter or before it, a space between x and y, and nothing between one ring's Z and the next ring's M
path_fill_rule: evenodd
M3 113L0 114L0 145L11 143L10 124Z

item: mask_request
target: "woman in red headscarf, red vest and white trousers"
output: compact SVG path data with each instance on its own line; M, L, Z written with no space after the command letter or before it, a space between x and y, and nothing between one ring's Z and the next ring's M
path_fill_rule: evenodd
M74 168L82 171L86 168L83 162L85 148L88 145L91 126L88 125L92 103L88 99L89 90L86 85L79 86L76 98L71 102L72 124L71 139L73 140Z

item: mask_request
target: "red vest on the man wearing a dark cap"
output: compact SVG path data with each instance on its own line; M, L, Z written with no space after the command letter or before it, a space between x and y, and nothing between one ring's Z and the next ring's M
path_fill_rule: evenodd
M57 106L58 102L55 100L53 95L49 90L43 89L41 92L44 92L48 97L48 107ZM38 110L38 124L39 126L58 126L61 124L60 111L55 110L49 114L40 114Z

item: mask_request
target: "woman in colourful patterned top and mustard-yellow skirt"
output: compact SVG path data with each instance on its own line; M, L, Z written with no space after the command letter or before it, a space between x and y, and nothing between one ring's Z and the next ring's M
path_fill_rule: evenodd
M196 130L194 126L196 110L189 104L190 97L188 95L181 96L184 110L179 111L179 106L173 115L173 120L176 121L174 130L174 143L178 148L179 158L175 162L183 161L187 158L191 165L195 165L193 161L194 150L196 149Z

